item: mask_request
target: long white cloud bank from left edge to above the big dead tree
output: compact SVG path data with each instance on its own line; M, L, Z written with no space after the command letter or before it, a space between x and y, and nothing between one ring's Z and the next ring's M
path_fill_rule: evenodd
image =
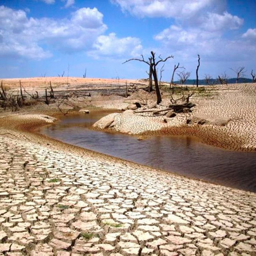
M28 18L25 11L0 7L0 56L43 59L53 47L62 52L87 51L94 56L135 56L142 50L135 37L103 35L107 26L97 8L81 8L70 19ZM44 46L44 47L43 47Z

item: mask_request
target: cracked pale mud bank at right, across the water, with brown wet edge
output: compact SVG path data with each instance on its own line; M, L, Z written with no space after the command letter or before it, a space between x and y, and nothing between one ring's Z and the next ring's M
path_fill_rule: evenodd
M106 117L95 128L103 129L113 120L108 130L137 135L193 136L211 146L256 152L256 85L209 86L207 93L202 93L201 89L192 90L194 94L190 101L195 104L192 112L175 113L174 117L166 117L168 111L154 115L153 111L171 104L170 99L165 98L153 110L127 110ZM102 106L108 107L107 104ZM194 117L200 123L193 123ZM188 120L192 120L189 125Z

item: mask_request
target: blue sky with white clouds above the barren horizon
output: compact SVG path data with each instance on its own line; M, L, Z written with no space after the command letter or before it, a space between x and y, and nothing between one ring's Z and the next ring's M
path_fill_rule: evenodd
M0 77L145 78L131 61L173 55L195 78L256 72L255 0L0 0ZM161 66L159 66L160 70Z

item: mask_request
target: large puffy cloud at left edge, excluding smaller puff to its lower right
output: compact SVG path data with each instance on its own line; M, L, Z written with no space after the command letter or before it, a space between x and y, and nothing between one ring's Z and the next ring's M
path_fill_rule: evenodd
M47 58L41 45L73 52L89 50L107 29L96 8L81 8L70 19L28 18L23 10L0 7L0 55Z

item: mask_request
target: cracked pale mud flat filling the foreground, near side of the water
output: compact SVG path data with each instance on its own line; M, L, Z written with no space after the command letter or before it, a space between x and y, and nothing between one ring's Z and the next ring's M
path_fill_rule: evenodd
M48 116L5 120L0 255L256 255L255 193L17 130Z

